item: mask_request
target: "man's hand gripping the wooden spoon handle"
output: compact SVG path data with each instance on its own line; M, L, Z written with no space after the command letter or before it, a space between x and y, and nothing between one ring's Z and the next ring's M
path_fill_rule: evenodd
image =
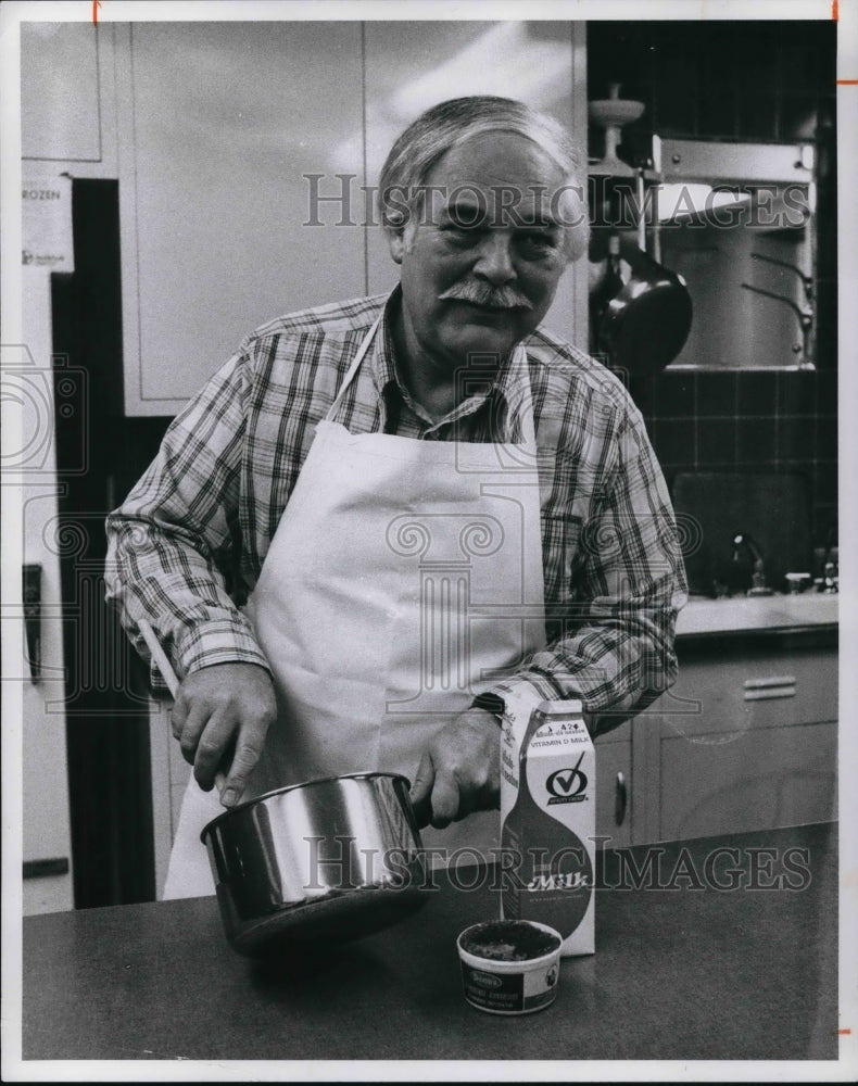
M274 685L256 664L215 664L186 675L173 706L173 734L203 792L223 770L220 803L232 807L241 799L276 716ZM231 766L223 765L229 752Z

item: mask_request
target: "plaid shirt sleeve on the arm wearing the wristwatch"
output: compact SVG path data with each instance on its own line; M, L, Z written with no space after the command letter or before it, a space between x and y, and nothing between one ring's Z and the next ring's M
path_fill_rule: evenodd
M634 408L611 445L590 516L575 526L568 596L546 601L548 628L559 633L492 686L502 698L521 683L546 699L580 697L597 733L676 681L676 620L687 599L667 485Z

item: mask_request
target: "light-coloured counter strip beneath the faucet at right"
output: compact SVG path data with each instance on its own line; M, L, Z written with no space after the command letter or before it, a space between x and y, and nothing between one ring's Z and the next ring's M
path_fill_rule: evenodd
M677 634L732 630L782 630L837 622L837 595L805 592L773 596L691 596L679 613Z

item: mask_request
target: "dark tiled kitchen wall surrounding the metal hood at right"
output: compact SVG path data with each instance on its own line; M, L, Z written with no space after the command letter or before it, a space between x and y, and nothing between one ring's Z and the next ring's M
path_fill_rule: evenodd
M816 142L816 371L667 369L634 392L669 483L689 470L799 472L820 545L837 525L835 59L830 20L588 24L589 99L621 84L646 104L644 132Z

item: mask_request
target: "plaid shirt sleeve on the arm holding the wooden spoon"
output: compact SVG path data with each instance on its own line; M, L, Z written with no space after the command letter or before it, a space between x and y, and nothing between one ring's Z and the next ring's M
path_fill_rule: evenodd
M229 584L241 546L247 370L239 351L171 424L106 520L106 598L144 658L138 623L152 624L180 677L220 662L268 667ZM154 665L152 684L164 687Z

